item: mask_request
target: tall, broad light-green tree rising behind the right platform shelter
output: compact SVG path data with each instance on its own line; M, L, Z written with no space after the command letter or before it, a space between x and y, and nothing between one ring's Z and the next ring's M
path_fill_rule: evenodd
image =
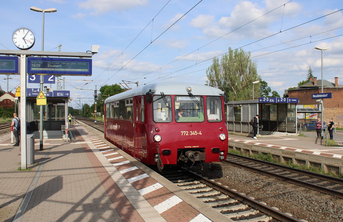
M229 101L250 100L252 98L252 82L261 80L257 73L256 62L252 62L251 53L243 49L232 50L214 58L212 65L206 70L209 86L221 89ZM258 84L254 85L254 94L260 93Z

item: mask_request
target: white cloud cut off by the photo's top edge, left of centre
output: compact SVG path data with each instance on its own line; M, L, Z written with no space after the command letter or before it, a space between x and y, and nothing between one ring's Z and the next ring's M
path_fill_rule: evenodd
M91 15L100 15L115 10L123 11L131 8L145 6L149 0L88 0L79 3L81 8L93 10Z

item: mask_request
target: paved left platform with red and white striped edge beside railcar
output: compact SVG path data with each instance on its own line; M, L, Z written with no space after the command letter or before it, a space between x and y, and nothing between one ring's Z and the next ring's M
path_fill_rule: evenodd
M0 221L230 221L100 135L73 125L74 140L35 141L35 164L0 137Z

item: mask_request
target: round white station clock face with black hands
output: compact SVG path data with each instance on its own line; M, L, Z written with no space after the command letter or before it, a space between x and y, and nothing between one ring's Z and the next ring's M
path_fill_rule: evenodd
M20 49L29 49L35 44L35 36L27 28L18 28L12 36L13 43Z

